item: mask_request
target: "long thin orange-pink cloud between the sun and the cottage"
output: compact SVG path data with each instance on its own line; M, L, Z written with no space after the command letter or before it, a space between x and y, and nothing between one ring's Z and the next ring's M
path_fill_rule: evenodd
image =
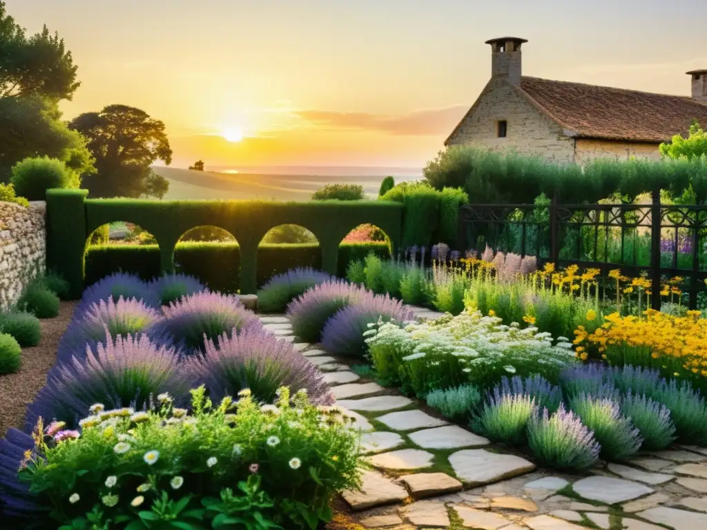
M449 134L467 112L466 105L416 110L408 114L372 114L329 110L295 111L301 119L325 129L382 131L397 136L438 136Z

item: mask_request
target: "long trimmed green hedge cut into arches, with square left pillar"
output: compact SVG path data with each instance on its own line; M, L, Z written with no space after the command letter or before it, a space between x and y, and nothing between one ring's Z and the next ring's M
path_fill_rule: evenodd
M255 293L258 276L264 277L264 273L257 270L260 267L256 266L256 252L271 228L296 224L310 230L321 245L320 268L333 274L339 269L341 240L358 225L370 223L381 228L390 237L393 252L397 252L402 211L400 204L387 201L86 200L85 190L76 190L73 194L68 190L50 190L47 192L47 264L69 281L72 295L79 296L83 290L86 240L101 225L124 221L150 232L159 244L160 272L167 273L175 270L173 259L179 262L178 252L174 250L182 234L192 228L212 225L228 230L235 237L241 250L240 290ZM281 266L274 268L284 270ZM185 264L178 270L188 272Z

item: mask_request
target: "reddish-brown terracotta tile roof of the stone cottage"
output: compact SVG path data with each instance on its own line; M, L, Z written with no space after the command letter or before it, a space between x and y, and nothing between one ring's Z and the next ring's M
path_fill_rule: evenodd
M707 125L707 105L679 95L523 76L520 88L542 110L582 138L661 142Z

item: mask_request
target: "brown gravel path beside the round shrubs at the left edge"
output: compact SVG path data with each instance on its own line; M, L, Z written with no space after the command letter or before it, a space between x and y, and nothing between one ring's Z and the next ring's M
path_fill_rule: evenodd
M76 302L62 302L59 316L41 320L42 341L34 348L23 348L22 366L18 372L0 375L0 437L8 428L21 428L25 408L47 382L47 372L57 358L59 338L74 313Z

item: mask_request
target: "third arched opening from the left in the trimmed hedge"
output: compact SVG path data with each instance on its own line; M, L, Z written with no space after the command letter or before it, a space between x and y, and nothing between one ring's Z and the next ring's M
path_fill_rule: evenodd
M258 245L257 284L296 267L322 268L319 240L302 225L277 225L263 236Z

